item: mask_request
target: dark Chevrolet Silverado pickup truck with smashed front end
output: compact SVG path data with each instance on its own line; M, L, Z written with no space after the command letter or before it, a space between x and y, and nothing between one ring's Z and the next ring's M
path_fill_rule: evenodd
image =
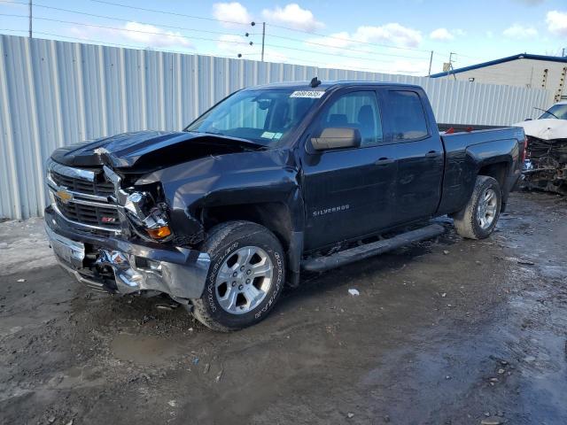
M448 133L413 85L242 89L183 131L54 151L46 230L91 290L164 295L209 328L244 328L302 271L439 236L431 218L489 236L521 174L524 131Z

